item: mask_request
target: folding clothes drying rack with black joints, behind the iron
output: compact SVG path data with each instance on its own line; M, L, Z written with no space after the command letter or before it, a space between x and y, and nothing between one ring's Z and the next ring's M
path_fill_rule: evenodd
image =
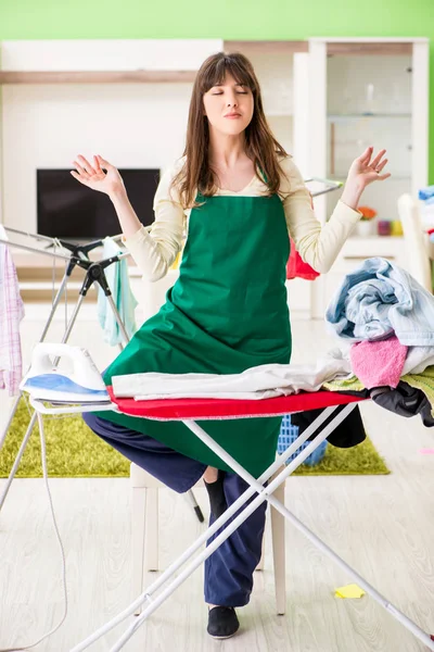
M130 253L128 251L125 251L120 254L113 255L111 258L103 259L100 261L92 261L89 258L89 253L91 251L93 251L94 249L103 246L103 241L101 239L92 240L91 242L87 242L84 244L84 243L68 242L64 239L51 238L49 236L42 236L40 234L30 234L27 231L18 230L18 229L7 227L7 226L3 226L3 228L7 231L8 236L9 236L9 234L11 235L11 238L4 239L4 238L0 237L0 242L7 244L9 247L29 251L31 253L38 253L38 254L51 256L53 259L53 263L56 260L65 263L65 272L64 272L63 278L61 280L59 290L52 302L50 314L49 314L46 325L43 327L42 335L40 336L39 342L44 341L47 333L48 333L50 325L52 323L52 319L54 317L55 311L61 302L61 299L63 296L66 297L65 292L67 290L67 283L71 278L71 275L73 274L73 272L76 267L80 267L81 269L85 271L85 278L82 280L82 285L79 290L77 304L74 309L74 312L73 312L69 321L66 324L65 331L64 331L64 335L62 338L62 343L67 343L71 333L74 328L74 324L77 319L77 315L81 308L81 304L85 301L87 293L93 284L97 284L103 290L104 296L105 296L106 300L108 301L110 308L115 316L117 325L119 326L122 336L124 338L124 342L128 343L129 337L128 337L127 330L126 330L125 325L120 318L120 315L116 309L116 305L113 300L113 296L112 296L111 289L108 287L106 276L105 276L105 269L110 265L113 265L113 264L119 262L120 260L123 260L124 258L127 258L130 255ZM15 240L13 238L15 238ZM30 242L33 242L33 244L28 244L28 243L26 244L23 241L18 241L20 239L23 240L23 238L24 238L24 240L29 239ZM113 239L115 241L119 241L122 239L122 235L114 236ZM42 247L41 246L36 247L36 242L41 243ZM51 251L51 249L53 251ZM58 251L59 249L63 250L63 252ZM67 252L67 254L65 252ZM120 348L123 348L122 344L119 344L119 346L120 346ZM56 366L58 364L59 364L59 359L54 360L54 366ZM17 406L18 406L22 396L23 396L23 392L20 392L17 398L15 399L15 401L12 405L11 413L9 415L8 423L5 424L2 432L0 434L0 450L4 444L8 431L11 427L13 417L15 415L15 412L17 410ZM21 443L20 450L16 454L14 464L12 466L12 469L10 472L10 475L8 477L5 486L0 494L0 511L4 504L8 492L11 488L12 481L13 481L16 471L20 466L22 456L27 447L27 443L28 443L28 440L33 432L33 429L35 427L36 421L37 421L37 415L36 415L36 413L34 413L31 415L26 434ZM191 502L193 510L197 516L197 519L201 523L203 523L204 516L202 514L201 507L197 504L197 501L195 500L194 493L192 491L189 491L187 493L187 498Z

